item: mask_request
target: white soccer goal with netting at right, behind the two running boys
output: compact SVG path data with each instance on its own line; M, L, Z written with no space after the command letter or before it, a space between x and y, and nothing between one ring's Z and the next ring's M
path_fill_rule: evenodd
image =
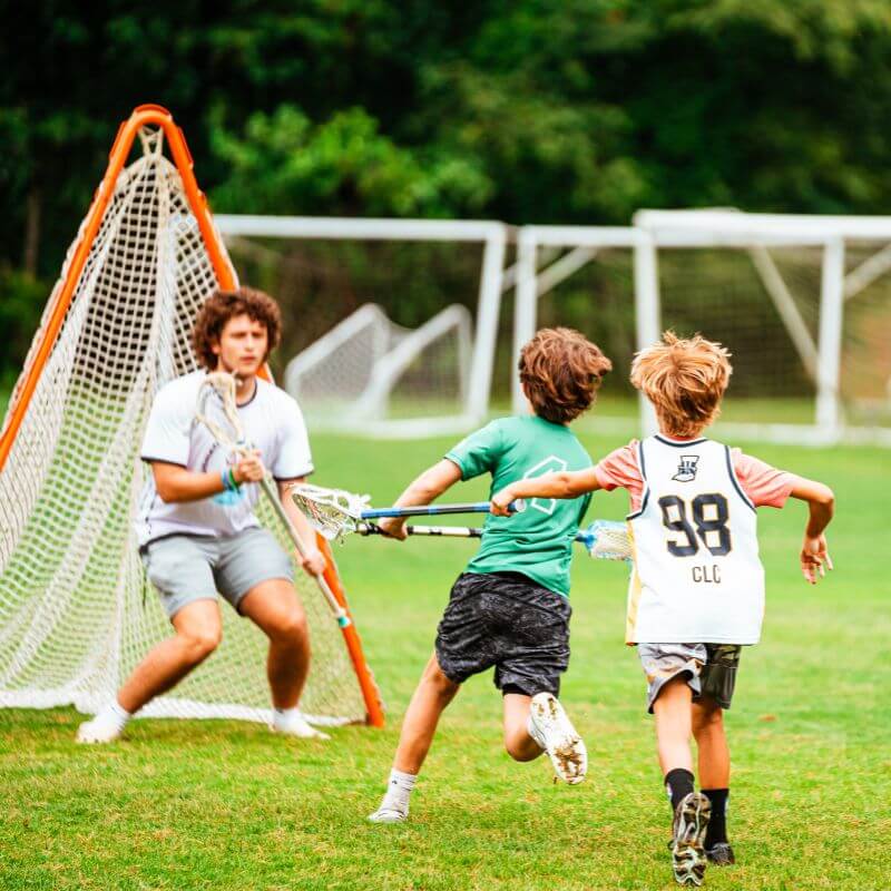
M634 222L519 235L515 350L539 323L597 340L619 370L597 422L628 419L630 354L670 327L733 353L722 434L891 444L891 218L642 210ZM547 246L559 254L541 265ZM636 413L652 430L643 400Z

